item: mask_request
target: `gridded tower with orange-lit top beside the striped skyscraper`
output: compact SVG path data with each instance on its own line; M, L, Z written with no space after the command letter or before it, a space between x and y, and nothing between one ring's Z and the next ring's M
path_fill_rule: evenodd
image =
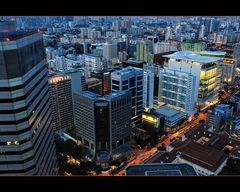
M73 103L71 76L65 74L49 77L49 91L53 116L53 131L61 133L73 129Z

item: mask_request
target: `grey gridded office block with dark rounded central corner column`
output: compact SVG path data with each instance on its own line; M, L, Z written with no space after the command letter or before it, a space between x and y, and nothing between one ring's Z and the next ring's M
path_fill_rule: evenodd
M118 91L101 97L84 91L74 94L77 138L91 153L111 155L128 144L131 133L131 93Z

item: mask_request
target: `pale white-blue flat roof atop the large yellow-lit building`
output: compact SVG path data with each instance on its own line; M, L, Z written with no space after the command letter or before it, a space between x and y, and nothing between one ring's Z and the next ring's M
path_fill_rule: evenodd
M199 62L199 63L211 63L211 62L216 62L221 60L221 58L219 57L201 56L198 52L193 52L193 51L178 51L170 55L164 55L163 57L180 59L180 60L189 60L189 61Z

